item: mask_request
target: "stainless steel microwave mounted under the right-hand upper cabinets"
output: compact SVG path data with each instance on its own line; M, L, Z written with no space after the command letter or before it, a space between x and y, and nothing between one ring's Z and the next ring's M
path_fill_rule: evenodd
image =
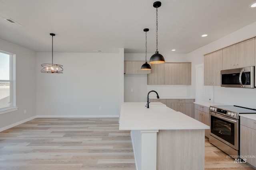
M221 87L254 88L254 66L221 70Z

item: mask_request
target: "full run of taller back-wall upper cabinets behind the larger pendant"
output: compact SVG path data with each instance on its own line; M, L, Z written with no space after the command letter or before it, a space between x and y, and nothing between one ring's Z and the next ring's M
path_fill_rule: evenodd
M191 85L191 63L151 64L148 85Z

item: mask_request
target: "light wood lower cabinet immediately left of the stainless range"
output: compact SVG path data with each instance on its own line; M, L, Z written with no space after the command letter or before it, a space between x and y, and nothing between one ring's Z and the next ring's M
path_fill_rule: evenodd
M209 107L194 104L194 108L194 119L210 126ZM204 135L209 138L210 129L205 129Z

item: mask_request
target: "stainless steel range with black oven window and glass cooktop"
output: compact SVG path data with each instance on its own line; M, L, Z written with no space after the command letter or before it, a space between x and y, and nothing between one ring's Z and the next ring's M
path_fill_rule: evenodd
M256 113L240 106L210 106L209 141L229 155L239 155L239 115Z

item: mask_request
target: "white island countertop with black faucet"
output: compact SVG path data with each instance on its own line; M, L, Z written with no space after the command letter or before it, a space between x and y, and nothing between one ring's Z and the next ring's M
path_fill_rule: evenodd
M120 130L210 129L208 125L160 102L124 102L120 111Z

